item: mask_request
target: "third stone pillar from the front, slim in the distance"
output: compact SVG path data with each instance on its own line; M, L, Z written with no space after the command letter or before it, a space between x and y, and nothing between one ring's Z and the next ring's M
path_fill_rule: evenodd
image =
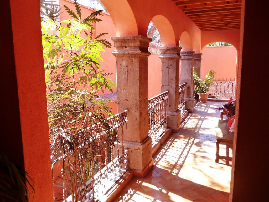
M193 60L194 51L181 51L181 63L180 63L180 83L187 83L185 91L185 109L190 113L194 109L194 97L193 94Z

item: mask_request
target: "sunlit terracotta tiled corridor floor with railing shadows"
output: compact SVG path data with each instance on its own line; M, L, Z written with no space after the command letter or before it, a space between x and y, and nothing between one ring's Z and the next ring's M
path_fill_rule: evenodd
M220 102L197 103L179 133L154 156L153 170L134 178L114 202L228 201L231 167L215 163ZM224 147L221 151L225 154ZM225 162L223 162L225 163Z

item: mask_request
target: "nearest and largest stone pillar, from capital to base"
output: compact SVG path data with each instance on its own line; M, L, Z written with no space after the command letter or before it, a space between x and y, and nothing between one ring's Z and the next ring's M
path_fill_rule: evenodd
M123 145L129 168L144 177L153 166L152 140L148 136L148 56L151 41L144 36L111 37L114 41L118 112L128 111Z

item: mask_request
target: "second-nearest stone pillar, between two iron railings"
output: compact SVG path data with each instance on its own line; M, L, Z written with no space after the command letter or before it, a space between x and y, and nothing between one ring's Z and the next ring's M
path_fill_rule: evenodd
M178 132L181 128L181 116L178 109L178 88L179 88L179 59L181 47L159 47L162 61L162 81L161 91L168 93L168 105L166 107L168 115L168 127L173 132Z

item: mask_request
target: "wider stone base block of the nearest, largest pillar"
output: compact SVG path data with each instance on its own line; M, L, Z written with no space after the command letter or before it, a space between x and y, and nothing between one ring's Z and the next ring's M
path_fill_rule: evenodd
M122 141L119 141L121 151ZM116 144L116 142L114 143ZM142 142L123 140L124 149L128 149L128 166L137 172L145 172L152 160L152 139L147 136Z

